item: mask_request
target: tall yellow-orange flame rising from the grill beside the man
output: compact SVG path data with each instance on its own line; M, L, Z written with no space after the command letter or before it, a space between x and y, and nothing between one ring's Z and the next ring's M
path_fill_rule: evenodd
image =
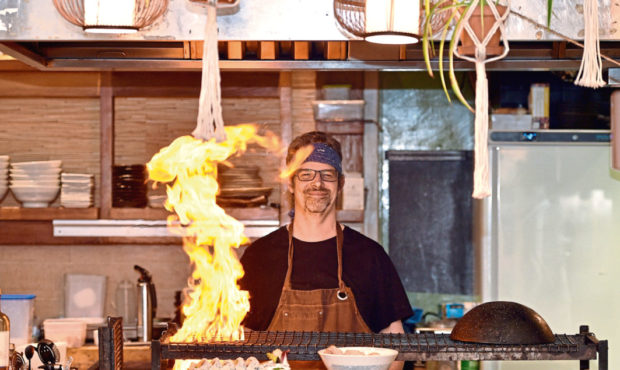
M237 284L244 272L234 249L248 239L243 224L216 204L217 164L245 152L250 143L268 149L280 144L273 134L257 135L254 125L225 130L227 139L221 142L179 137L147 164L151 180L168 183L165 207L176 213L168 217L168 225L183 235L183 249L194 269L183 306L186 319L172 342L243 339L241 321L250 304L248 292ZM191 363L177 361L175 369Z

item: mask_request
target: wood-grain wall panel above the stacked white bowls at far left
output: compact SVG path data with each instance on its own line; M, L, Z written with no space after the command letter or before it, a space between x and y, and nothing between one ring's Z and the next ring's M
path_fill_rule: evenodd
M98 183L98 98L0 98L0 117L0 154L11 162L60 159L64 172L92 173ZM2 206L10 205L9 195Z

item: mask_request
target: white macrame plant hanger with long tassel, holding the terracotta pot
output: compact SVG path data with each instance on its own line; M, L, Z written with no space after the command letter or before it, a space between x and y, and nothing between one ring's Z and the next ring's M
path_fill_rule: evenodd
M495 17L495 23L491 29L487 32L483 40L480 40L471 25L469 19L473 14L476 7L480 6L479 0L472 1L472 4L467 9L463 19L454 30L452 37L460 38L461 33L465 30L475 45L475 54L473 57L459 54L457 50L457 42L452 43L451 53L461 59L473 62L476 64L476 108L475 108L475 120L474 120L474 191L472 196L477 199L485 198L491 195L491 187L489 184L489 150L487 136L489 132L489 83L486 76L485 64L494 62L496 60L504 58L508 55L508 40L506 38L506 29L504 22L508 18L510 13L510 0L507 1L506 11L504 14L499 14L494 1L486 1L485 6L488 6ZM504 52L498 56L488 58L486 55L486 48L491 40L493 34L500 30L502 42L504 44Z

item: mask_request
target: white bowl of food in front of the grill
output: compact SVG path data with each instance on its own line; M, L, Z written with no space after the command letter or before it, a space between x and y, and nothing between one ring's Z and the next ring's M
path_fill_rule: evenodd
M328 370L387 370L398 351L380 347L335 347L319 350Z

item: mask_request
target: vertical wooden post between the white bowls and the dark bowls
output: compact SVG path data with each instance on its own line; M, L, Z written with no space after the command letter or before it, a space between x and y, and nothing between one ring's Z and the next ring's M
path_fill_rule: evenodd
M112 210L112 166L114 165L114 89L112 72L100 74L99 119L101 122L99 186L100 217L110 218Z

